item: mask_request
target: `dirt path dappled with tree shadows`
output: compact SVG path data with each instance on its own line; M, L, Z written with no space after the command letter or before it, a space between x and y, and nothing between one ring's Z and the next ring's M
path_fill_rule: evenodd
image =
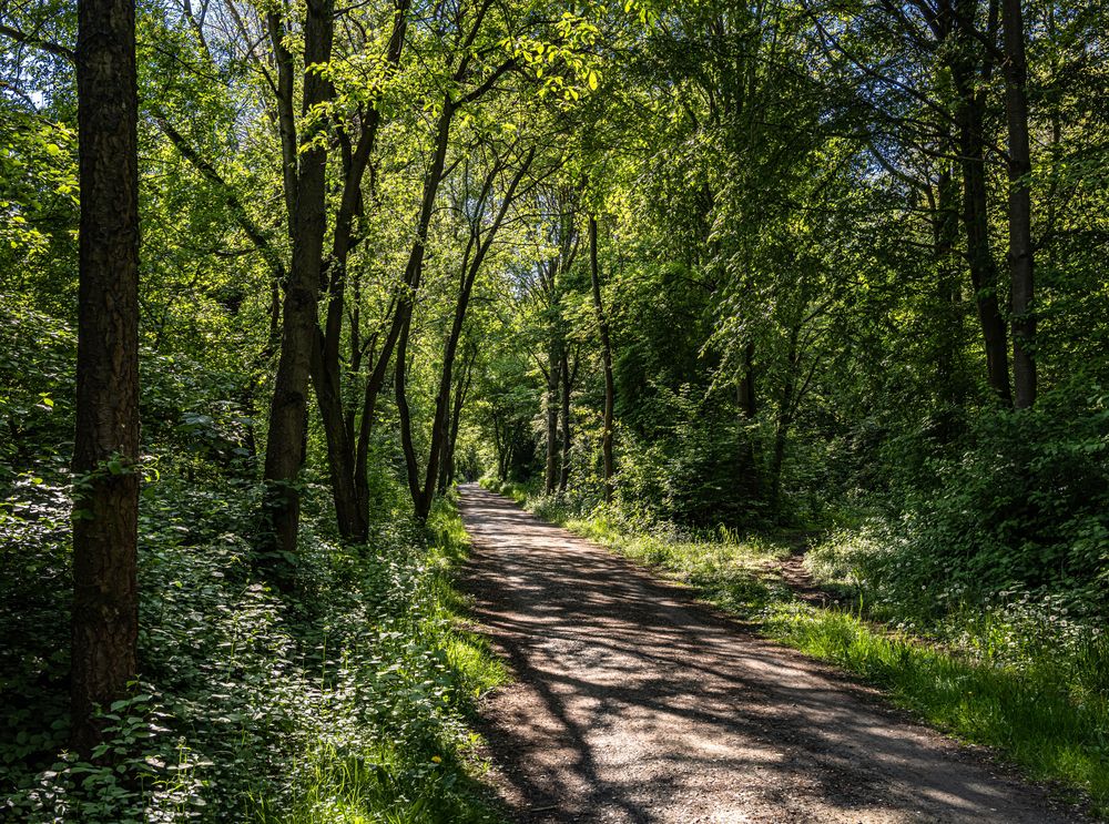
M484 704L520 822L1082 821L868 690L476 486L464 581L519 681Z

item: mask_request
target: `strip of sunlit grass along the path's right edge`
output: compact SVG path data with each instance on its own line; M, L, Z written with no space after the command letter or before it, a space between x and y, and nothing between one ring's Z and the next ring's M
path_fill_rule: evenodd
M1027 622L964 606L944 618L940 642L930 632L903 629L920 627L918 612L908 607L899 613L886 601L879 613L868 611L861 588L853 607L796 600L775 574L774 561L788 548L773 538L690 537L611 508L580 516L558 499L528 498L519 489L512 497L539 517L693 588L763 634L862 677L925 722L993 747L1029 777L1071 797L1085 795L1091 812L1109 821L1105 634L1052 643L1050 632L1044 634L1049 624L1041 621L1034 642Z

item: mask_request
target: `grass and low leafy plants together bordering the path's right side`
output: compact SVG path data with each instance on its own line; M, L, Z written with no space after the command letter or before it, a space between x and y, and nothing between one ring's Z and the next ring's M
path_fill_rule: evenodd
M885 691L937 729L990 747L1027 776L1089 798L1109 820L1109 635L1087 590L968 586L881 520L825 532L805 568L835 606L781 573L790 537L682 527L615 502L484 482L543 520L689 586L761 633ZM928 577L930 576L930 577Z

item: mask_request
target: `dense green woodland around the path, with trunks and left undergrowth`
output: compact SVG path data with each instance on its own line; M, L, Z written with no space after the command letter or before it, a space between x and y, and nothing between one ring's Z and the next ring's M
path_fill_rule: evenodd
M0 0L0 820L497 821L481 476L807 541L859 614L1080 661L1103 724L1107 34Z

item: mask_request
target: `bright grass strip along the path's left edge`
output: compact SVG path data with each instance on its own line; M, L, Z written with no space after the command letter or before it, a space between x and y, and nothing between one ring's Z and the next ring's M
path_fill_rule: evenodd
M415 621L398 628L406 658L398 662L410 693L398 718L406 729L369 746L350 747L342 731L314 741L296 767L287 810L260 804L265 824L502 824L492 792L480 781L480 739L468 730L477 701L509 680L508 670L479 634L466 629L466 599L454 587L469 552L456 500L437 502L427 523L426 576ZM436 660L438 659L438 660ZM414 680L413 677L416 679ZM395 689L395 684L390 688ZM370 699L373 700L373 699ZM437 705L433 719L424 708ZM414 710L416 710L414 712ZM396 710L391 714L398 714ZM342 722L342 715L336 721ZM430 722L430 723L428 723ZM421 729L423 725L427 729Z

